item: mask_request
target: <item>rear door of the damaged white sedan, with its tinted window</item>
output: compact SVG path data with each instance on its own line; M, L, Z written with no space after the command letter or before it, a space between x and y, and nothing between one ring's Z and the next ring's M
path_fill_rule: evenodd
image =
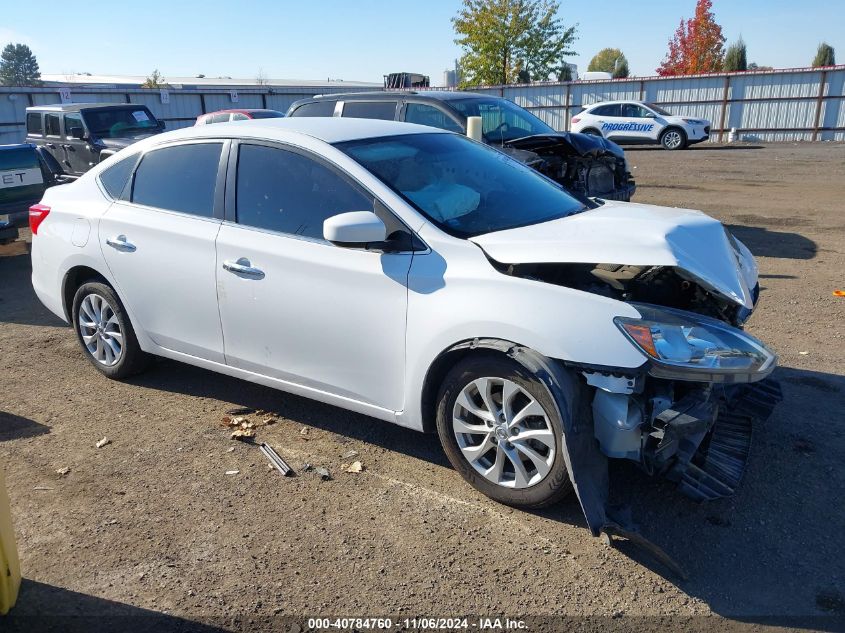
M227 156L228 141L220 140L148 150L99 227L103 255L135 327L163 348L220 363L214 240Z

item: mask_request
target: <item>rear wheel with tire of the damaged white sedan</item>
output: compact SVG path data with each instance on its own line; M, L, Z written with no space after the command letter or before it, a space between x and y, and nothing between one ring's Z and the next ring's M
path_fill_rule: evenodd
M152 361L138 345L123 303L108 284L82 284L73 297L72 317L85 357L108 378L120 380L140 373Z

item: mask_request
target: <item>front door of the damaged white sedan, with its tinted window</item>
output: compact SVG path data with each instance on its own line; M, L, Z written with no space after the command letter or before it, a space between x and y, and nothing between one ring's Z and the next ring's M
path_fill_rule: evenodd
M316 156L258 141L233 151L217 238L226 362L401 410L412 254L323 239L326 218L372 211L374 197Z

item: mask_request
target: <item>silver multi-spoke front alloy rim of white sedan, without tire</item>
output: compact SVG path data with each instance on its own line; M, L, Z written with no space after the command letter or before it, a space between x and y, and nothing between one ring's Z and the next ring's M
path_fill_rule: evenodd
M455 401L452 429L464 458L498 486L534 486L555 461L549 416L531 394L506 378L468 383Z

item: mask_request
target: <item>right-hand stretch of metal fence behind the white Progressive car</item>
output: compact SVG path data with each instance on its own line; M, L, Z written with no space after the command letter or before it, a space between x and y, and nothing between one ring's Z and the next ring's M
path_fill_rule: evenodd
M505 97L556 130L598 101L647 101L673 114L708 119L712 141L735 128L750 141L845 140L845 66L484 86L475 92Z

